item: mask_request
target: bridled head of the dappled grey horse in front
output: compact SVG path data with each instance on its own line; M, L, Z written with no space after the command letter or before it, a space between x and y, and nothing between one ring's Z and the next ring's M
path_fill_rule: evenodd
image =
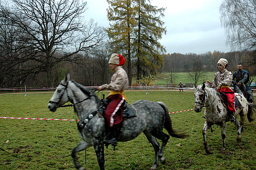
M48 108L51 112L55 112L57 108L64 105L66 102L70 101L67 92L68 82L70 80L70 75L67 74L66 77L61 81L58 85L57 89L55 90L52 98L49 101Z

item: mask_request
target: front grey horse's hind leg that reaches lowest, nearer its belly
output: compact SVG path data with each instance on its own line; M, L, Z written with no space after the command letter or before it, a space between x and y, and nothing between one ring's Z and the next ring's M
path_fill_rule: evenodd
M150 168L150 170L156 170L157 167L159 166L158 154L159 154L160 144L157 141L157 139L153 135L151 135L151 133L148 132L147 130L144 130L143 133L146 135L148 141L154 147L154 150L155 150L155 161L154 161L153 166Z

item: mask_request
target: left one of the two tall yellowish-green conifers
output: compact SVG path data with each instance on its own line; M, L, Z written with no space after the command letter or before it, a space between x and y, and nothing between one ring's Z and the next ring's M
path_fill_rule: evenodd
M131 84L131 30L134 27L134 10L132 0L107 0L109 8L107 17L110 27L106 29L112 40L113 53L121 53L128 60L128 79Z

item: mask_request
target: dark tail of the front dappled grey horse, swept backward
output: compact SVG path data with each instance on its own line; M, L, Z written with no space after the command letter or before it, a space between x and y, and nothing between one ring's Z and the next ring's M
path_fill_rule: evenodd
M187 135L186 133L179 133L173 130L172 122L171 122L171 118L170 118L167 106L163 102L157 102L157 103L160 104L160 106L165 112L164 128L168 131L168 134L175 138L182 138L182 139L187 138L189 135Z

